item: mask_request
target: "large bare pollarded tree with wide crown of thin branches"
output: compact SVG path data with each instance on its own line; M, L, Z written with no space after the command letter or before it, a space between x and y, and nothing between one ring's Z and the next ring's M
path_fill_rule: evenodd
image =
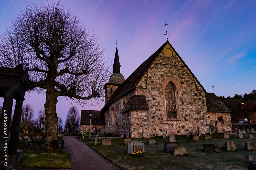
M104 50L97 36L59 2L27 3L0 37L0 66L23 64L31 90L45 93L47 141L51 141L47 150L58 146L58 97L88 105L103 101L110 73Z

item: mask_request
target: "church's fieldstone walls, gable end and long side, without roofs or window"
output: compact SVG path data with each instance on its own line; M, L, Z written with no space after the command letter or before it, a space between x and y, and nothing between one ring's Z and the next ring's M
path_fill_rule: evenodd
M169 44L166 48L172 49ZM163 129L167 130L167 134L186 135L187 128L197 131L199 127L200 133L205 134L209 132L209 126L215 128L214 122L218 121L220 115L224 119L223 130L230 131L230 113L207 112L203 88L173 49L172 57L165 56L164 50L148 68L134 91L109 106L109 110L105 112L106 132L127 133L130 130L131 138L149 138L159 136ZM165 87L170 81L176 91L177 118L166 116ZM145 95L150 109L131 110L121 116L122 100L128 101L133 95ZM115 122L113 125L112 108Z

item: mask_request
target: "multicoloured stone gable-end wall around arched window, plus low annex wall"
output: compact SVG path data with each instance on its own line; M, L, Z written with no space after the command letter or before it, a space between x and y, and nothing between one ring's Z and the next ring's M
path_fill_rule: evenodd
M179 119L176 120L166 119L163 84L169 77L176 85L178 95ZM147 88L140 88L145 80ZM147 77L144 76L139 84L136 95L146 96L150 110L144 113L131 111L132 137L159 136L160 130L167 130L168 134L185 135L186 129L197 131L197 127L205 134L209 132L209 124L215 127L214 121L221 113L207 113L203 88L175 53L172 57L166 57L162 52L147 70ZM229 113L221 115L225 120L230 120ZM230 131L230 127L223 126L223 130Z

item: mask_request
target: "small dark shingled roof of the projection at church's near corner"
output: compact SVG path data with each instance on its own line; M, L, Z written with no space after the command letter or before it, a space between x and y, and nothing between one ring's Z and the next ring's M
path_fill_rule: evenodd
M129 110L149 110L145 95L132 96L124 105L121 113Z

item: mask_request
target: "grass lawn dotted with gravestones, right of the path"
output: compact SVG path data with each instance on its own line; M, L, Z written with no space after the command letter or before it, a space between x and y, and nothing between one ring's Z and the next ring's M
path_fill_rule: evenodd
M250 154L253 159L256 159L255 151L246 151L245 149L245 142L256 142L256 139L248 139L249 134L248 132L243 134L244 138L230 135L230 139L223 139L223 134L212 134L212 140L205 141L204 137L200 137L198 142L188 142L187 137L175 136L179 145L187 147L190 156L175 156L165 153L165 138L160 137L155 137L156 145L145 144L144 158L127 155L127 146L123 144L123 139L120 142L112 142L111 146L94 145L93 143L88 143L88 146L122 169L247 169L248 164L244 163L245 156ZM144 141L144 138L133 140ZM226 141L236 142L237 150L227 152L223 149L217 149L219 153L199 151L203 149L203 144L215 144L215 146L224 147Z

